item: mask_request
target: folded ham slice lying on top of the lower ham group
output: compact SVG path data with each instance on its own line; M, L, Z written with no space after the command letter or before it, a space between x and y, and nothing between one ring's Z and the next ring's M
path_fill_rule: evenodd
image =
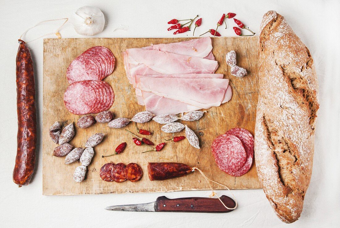
M220 106L227 100L225 93L229 80L221 78L153 78L139 79L142 91L181 101L201 108Z

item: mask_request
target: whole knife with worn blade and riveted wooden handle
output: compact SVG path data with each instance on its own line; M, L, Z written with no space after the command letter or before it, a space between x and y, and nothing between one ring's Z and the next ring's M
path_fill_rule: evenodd
M235 207L235 201L225 195L220 199L228 208ZM203 212L203 213L226 213L233 210L223 206L218 198L186 197L169 199L160 196L156 201L146 204L116 205L105 208L111 211L148 211L148 212Z

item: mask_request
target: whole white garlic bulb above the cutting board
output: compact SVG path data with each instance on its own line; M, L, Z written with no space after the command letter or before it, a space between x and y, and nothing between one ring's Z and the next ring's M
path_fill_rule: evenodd
M71 23L78 34L93 36L103 31L105 18L99 8L83 6L72 15Z

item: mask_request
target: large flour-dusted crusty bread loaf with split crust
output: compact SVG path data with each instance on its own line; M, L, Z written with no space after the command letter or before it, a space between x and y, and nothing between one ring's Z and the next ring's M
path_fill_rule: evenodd
M312 172L317 76L309 50L275 11L263 16L258 55L257 173L276 215L292 223Z

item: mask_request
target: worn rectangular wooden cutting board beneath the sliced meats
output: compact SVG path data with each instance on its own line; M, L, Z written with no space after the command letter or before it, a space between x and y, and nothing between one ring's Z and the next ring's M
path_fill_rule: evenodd
M135 91L126 78L122 51L127 48L140 48L151 43L170 43L188 40L189 38L82 38L82 39L44 39L44 109L43 109L43 194L44 195L76 195L76 194L106 194L106 193L132 193L132 192L171 192L185 190L209 189L208 183L197 172L187 176L165 181L150 181L147 172L148 162L182 162L201 169L207 177L220 182L231 189L258 189L255 164L251 170L241 176L232 177L218 169L210 152L210 145L214 138L224 134L233 127L243 127L254 133L256 104L258 96L258 69L257 69L257 37L221 37L212 38L212 52L218 60L219 68L216 73L224 74L230 79L233 90L231 101L207 110L203 118L195 122L184 122L195 131L200 139L201 149L190 146L187 140L181 142L168 142L161 152L149 152L147 146L136 146L132 136L124 129L136 133L133 123L121 129L112 129L107 124L96 123L85 129L79 128L75 123L81 116L68 112L63 103L64 91L68 86L66 69L70 62L92 46L105 46L116 57L116 66L113 73L105 78L115 92L115 102L111 107L115 118L132 118L139 111L144 110L136 102ZM237 53L237 65L244 67L248 75L237 78L230 75L230 67L225 62L225 54L230 50ZM75 136L70 142L74 147L82 147L88 137L95 133L104 133L102 143L95 147L95 156L88 166L85 180L76 183L73 172L79 161L65 165L63 158L52 156L56 144L49 137L49 127L60 121L63 126L74 123ZM160 130L162 125L150 121L138 124L140 128L153 132L148 137L154 143L164 142L164 139L184 135L180 133L169 134ZM127 142L124 153L112 157L102 158L101 155L112 154L116 146ZM99 177L101 166L107 162L138 163L144 175L137 182L125 181L122 183L105 182ZM223 187L212 184L214 189Z

